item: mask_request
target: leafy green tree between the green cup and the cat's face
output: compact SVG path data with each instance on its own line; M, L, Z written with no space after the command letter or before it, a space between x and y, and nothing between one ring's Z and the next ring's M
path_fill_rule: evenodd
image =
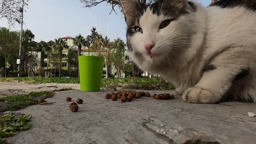
M124 68L124 52L125 52L125 44L124 41L120 38L117 38L117 40L114 40L114 42L111 43L112 46L112 57L111 57L111 63L115 66L118 78L120 78L121 70Z

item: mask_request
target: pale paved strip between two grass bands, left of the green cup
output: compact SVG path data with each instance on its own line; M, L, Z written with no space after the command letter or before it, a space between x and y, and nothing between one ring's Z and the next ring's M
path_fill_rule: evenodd
M62 88L80 89L80 84L31 84L25 82L0 82L0 97L26 94L29 92L40 92L43 90L56 90Z

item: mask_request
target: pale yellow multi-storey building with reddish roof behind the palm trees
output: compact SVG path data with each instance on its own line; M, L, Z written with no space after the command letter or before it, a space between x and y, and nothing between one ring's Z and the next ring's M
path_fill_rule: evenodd
M68 63L68 54L70 51L77 51L78 46L75 46L73 44L73 38L70 36L63 37L63 40L67 42L67 45L69 46L68 49L64 49L62 51L62 67L61 67L61 74L62 76L71 76L71 77L76 77L78 73L78 66L72 65ZM47 42L48 44L51 44L53 41ZM34 70L32 72L35 72L40 68L40 63L41 63L41 52L33 52L33 54L36 56L36 60L34 63ZM44 58L44 71L45 71L45 76L47 77L59 77L59 68L58 68L58 58L57 54L58 52L54 51L54 49L50 50L49 52L44 52L45 58ZM82 52L81 55L83 56L96 56L98 52L96 50L89 49L88 47L83 46L82 47ZM126 64L130 62L129 57L127 56L127 52L125 52L125 61ZM33 68L32 68L33 69ZM107 70L108 69L108 70ZM106 72L108 71L108 74ZM103 67L103 72L102 75L108 75L117 77L117 70L114 68L114 66L105 66ZM34 76L32 74L32 76ZM120 74L120 77L127 77L126 74L122 73Z

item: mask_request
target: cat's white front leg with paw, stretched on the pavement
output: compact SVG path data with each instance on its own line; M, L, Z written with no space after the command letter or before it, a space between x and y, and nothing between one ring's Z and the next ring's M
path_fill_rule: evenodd
M250 68L217 67L205 72L194 87L184 92L182 98L186 102L215 104L230 89L233 82L249 73Z

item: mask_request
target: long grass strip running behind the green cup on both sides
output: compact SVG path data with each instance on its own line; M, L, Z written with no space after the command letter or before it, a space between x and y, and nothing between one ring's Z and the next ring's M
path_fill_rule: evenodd
M24 77L24 78L0 78L0 82L19 82L27 83L70 83L79 84L78 78L42 78L42 77ZM161 77L155 78L102 78L102 88L134 88L143 90L173 90L174 86L166 82Z

